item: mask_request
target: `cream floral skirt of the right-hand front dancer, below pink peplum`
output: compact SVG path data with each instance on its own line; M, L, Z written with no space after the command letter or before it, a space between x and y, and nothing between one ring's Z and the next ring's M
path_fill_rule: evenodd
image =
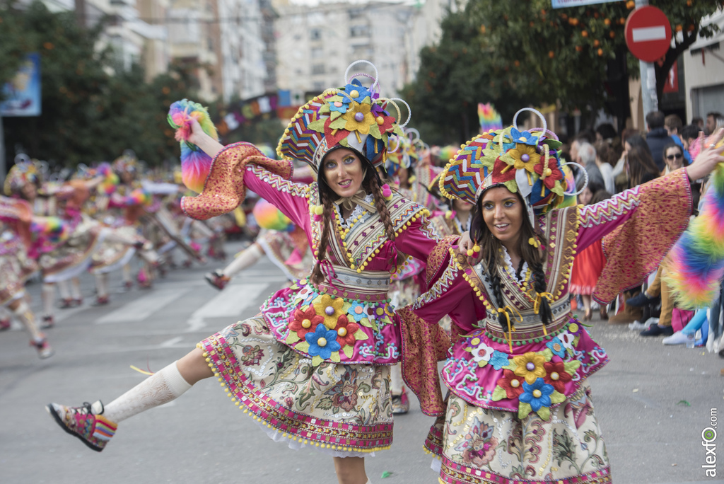
M440 459L444 484L610 483L591 390L581 385L547 420L485 409L451 394L425 448Z

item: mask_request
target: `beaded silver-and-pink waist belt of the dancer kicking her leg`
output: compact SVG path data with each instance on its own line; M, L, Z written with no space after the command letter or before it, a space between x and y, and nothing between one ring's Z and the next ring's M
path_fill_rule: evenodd
M315 285L319 291L345 299L358 301L386 301L387 289L390 287L390 272L386 270L366 270L358 273L349 267L332 265L332 280Z

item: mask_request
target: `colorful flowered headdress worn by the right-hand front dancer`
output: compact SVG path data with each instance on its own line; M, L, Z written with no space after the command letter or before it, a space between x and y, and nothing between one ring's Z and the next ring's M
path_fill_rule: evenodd
M543 128L518 130L515 120L523 111L539 115ZM561 146L555 133L547 130L542 114L535 109L521 109L513 118L513 126L491 130L465 143L450 160L440 177L440 191L451 199L475 204L488 188L505 186L520 193L534 213L542 214L561 206L575 187L565 176L560 159Z

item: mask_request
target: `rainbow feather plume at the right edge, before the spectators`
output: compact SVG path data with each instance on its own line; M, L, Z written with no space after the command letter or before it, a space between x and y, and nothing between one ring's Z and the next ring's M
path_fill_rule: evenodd
M719 165L704 195L699 217L676 242L665 280L678 306L698 309L717 296L724 276L724 166Z

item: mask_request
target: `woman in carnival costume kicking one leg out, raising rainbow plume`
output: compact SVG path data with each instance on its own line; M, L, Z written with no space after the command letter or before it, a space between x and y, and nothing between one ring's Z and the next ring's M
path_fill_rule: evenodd
M398 251L425 259L437 243L427 210L378 179L387 138L401 133L388 111L400 118L395 100L376 87L376 78L371 88L348 80L301 107L279 141L280 160L249 143L224 147L203 133L215 134L205 109L185 100L172 106L177 138L214 157L210 168L187 159L185 183L201 195L183 199L184 211L196 219L231 212L248 188L304 228L315 266L257 317L206 338L105 407L49 404L59 425L100 451L122 420L216 376L271 438L331 454L340 483L368 482L363 457L392 443L389 366L401 341L390 275ZM291 159L310 164L318 182L290 182Z

